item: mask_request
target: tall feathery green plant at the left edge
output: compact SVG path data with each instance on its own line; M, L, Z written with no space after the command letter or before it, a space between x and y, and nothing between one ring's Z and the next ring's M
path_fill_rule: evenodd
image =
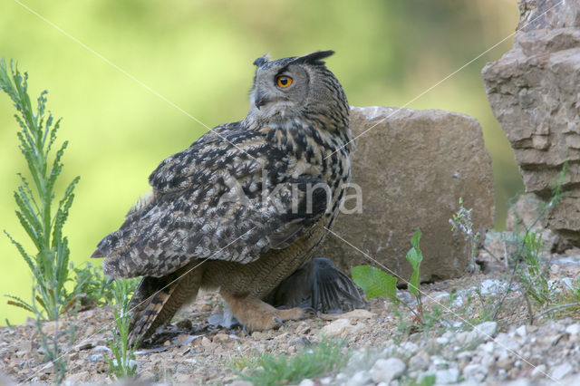
M51 154L61 120L54 121L51 112L46 115L46 91L41 92L36 109L33 109L27 81L27 72L21 74L11 62L9 73L5 60L0 61L0 89L8 94L19 112L14 115L22 129L18 132L18 140L32 179L31 184L18 173L21 185L14 191L18 207L16 217L35 249L34 253L27 252L5 231L33 273L35 293L32 304L16 296L9 296L8 303L33 312L39 318L55 320L74 304L75 299L74 294L64 288L70 280L70 251L68 240L63 236L63 226L73 205L73 191L79 177L68 184L54 207L56 181L63 170L62 158L68 142L64 141L61 148ZM37 309L35 304L41 308Z

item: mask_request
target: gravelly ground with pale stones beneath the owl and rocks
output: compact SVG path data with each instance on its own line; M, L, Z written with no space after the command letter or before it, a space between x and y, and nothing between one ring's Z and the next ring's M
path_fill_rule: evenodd
M580 277L580 250L550 256L550 280L556 291L566 291ZM492 265L489 265L492 266ZM174 323L156 338L156 347L137 354L139 379L164 384L245 384L237 381L232 363L262 352L292 355L316 344L323 335L342 337L352 353L339 372L301 385L404 384L580 384L580 320L569 310L536 318L530 324L527 306L510 275L496 268L487 274L422 285L423 304L433 315L431 326L411 327L410 312L382 299L368 310L324 315L288 322L276 331L251 336L239 329L218 329L208 317L221 311L218 294L201 294L180 311ZM513 291L507 291L511 288ZM412 296L400 292L403 301ZM504 298L496 322L479 323L483 310ZM494 303L495 302L495 303ZM486 305L487 304L487 305ZM435 311L432 311L435 309ZM536 312L536 316L540 314ZM109 355L110 307L68 316L59 331L76 325L73 343L63 333L67 348L69 384L111 382L103 355ZM54 333L55 323L43 323ZM104 328L104 331L102 329ZM53 367L43 363L34 321L0 329L0 384L50 383ZM242 372L248 372L243 369Z

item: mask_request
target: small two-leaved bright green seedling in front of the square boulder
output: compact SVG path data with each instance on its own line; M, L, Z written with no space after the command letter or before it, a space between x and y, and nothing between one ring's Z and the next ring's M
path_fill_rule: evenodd
M412 247L409 252L407 252L407 256L405 256L413 268L413 273L411 274L411 280L408 282L408 287L411 294L415 296L417 301L417 309L415 310L413 307L411 307L410 304L406 304L404 302L403 304L411 310L411 313L415 315L420 324L424 324L425 314L419 291L420 263L423 260L423 255L419 247L420 236L420 229L417 229L417 232L415 232L415 234L411 237ZM353 266L351 273L353 275L354 283L359 285L364 290L367 299L386 296L393 304L401 304L401 301L397 297L397 278L395 276L389 275L381 269L375 268L371 265Z

